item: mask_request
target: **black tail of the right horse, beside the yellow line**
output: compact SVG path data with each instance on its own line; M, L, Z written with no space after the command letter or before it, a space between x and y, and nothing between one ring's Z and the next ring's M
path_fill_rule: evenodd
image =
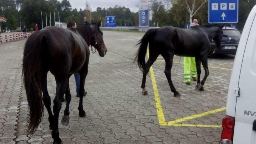
M147 44L149 43L150 40L152 40L152 38L154 38L156 31L157 29L148 30L143 36L143 38L137 44L137 45L140 45L140 47L136 53L135 59L137 59L138 67L142 72L145 67L145 56L147 53Z

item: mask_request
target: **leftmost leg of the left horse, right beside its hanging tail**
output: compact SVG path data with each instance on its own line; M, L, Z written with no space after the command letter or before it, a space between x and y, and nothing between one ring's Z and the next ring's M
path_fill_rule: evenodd
M53 129L53 114L51 112L51 97L49 96L48 90L47 90L47 72L44 72L42 74L42 92L43 92L43 100L45 107L48 111L48 120L49 120L49 128L52 130Z

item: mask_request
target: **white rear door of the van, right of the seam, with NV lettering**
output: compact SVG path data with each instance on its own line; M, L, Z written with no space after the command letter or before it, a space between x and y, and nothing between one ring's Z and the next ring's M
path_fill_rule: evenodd
M237 97L233 144L256 143L256 131L253 130L253 122L256 120L256 17L255 14L251 16L250 19L254 20L250 26L250 32L243 31L249 32L249 35L240 77L237 76L239 77L240 95Z

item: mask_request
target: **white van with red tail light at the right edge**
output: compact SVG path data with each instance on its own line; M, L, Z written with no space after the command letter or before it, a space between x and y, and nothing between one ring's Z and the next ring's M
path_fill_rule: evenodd
M256 6L238 45L219 144L256 144Z

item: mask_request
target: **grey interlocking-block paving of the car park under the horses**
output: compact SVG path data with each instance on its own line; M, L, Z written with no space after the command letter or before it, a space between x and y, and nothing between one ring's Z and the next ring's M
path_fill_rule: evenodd
M61 125L65 102L59 117L64 144L218 143L234 56L209 59L210 75L203 92L195 90L195 82L189 86L183 82L183 58L179 64L180 57L175 56L172 80L180 98L170 92L165 63L159 56L148 74L149 94L145 96L140 88L142 72L134 62L134 45L144 33L103 32L108 52L104 58L97 53L90 55L84 118L78 115L79 98L75 96L74 77L70 78L69 125ZM24 43L20 40L0 45L0 143L52 143L46 109L38 131L27 133L28 107L21 78ZM49 73L51 100L55 88L54 77Z

